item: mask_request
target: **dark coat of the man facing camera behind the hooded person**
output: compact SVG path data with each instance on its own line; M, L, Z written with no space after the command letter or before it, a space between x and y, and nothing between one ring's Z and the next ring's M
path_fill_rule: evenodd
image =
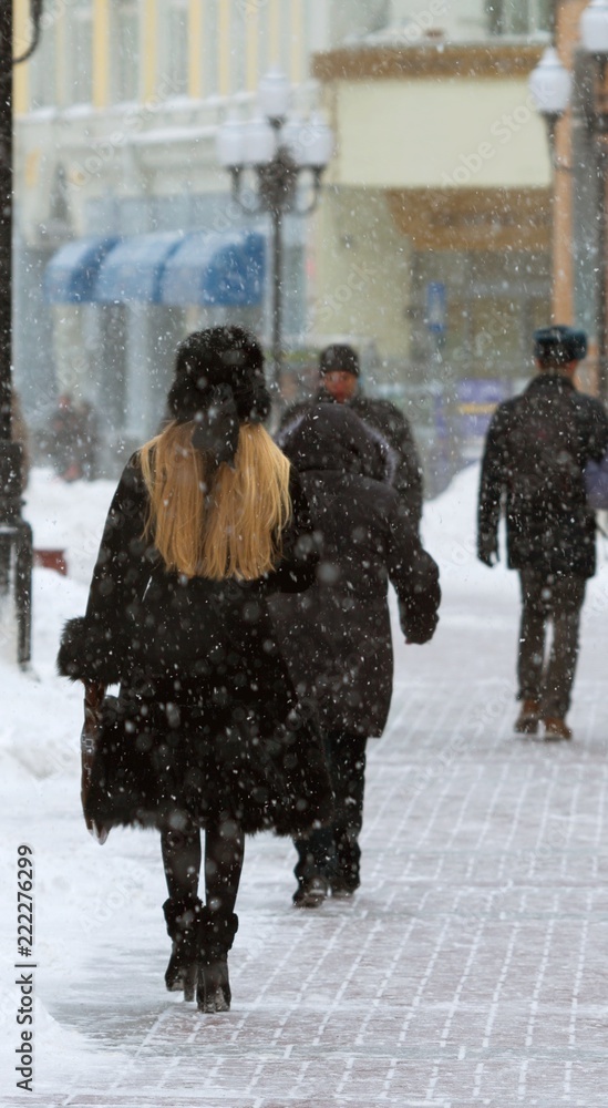
M318 403L337 402L321 384L313 400L292 404L287 409L280 422L281 433L298 416L310 411ZM422 465L408 420L390 400L372 399L362 392L355 392L344 404L368 427L379 431L394 451L390 483L401 496L408 519L418 531L422 519Z

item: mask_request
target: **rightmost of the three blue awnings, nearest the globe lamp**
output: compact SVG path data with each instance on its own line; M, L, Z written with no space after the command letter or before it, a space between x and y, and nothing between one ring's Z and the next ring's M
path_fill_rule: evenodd
M166 259L161 304L250 307L261 301L264 275L264 235L195 232Z

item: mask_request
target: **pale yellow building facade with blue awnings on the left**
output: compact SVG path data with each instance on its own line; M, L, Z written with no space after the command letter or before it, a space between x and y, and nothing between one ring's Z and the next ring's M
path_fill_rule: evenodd
M378 7L349 4L348 25L369 30ZM69 393L93 403L112 451L127 449L157 425L183 335L228 319L268 335L267 217L230 199L217 127L253 114L271 68L306 116L310 57L347 22L324 0L47 0L40 47L14 82L16 379L31 422ZM19 54L31 33L21 0L14 24ZM290 346L306 331L308 236L286 219ZM223 265L241 278L238 295Z

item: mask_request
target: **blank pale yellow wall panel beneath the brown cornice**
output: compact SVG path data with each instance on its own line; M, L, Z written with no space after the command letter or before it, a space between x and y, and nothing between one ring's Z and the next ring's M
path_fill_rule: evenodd
M368 187L543 188L550 165L526 80L337 82L331 179Z

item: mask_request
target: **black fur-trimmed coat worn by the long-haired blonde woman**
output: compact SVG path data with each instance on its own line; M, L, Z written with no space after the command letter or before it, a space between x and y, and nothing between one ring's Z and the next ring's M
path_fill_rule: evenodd
M291 471L292 522L276 572L250 583L168 573L142 535L137 455L112 502L86 614L63 634L59 671L120 683L106 704L87 814L99 823L204 825L298 834L331 815L317 724L295 695L268 595L307 588L318 552ZM179 817L178 817L179 818Z

